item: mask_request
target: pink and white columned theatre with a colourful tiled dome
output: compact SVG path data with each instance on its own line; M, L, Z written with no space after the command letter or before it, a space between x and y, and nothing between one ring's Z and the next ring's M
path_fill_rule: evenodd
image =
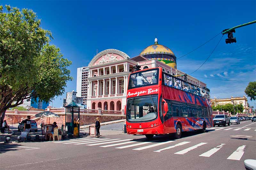
M134 71L133 66L139 64L141 69L162 67L163 71L172 75L184 74L177 70L176 57L171 49L155 44L145 48L140 55L130 58L116 49L101 51L93 57L88 65L88 80L77 76L77 92L87 83L87 108L103 110L122 110L126 104L128 76ZM81 70L80 68L77 69ZM77 73L78 75L78 73ZM80 75L80 73L79 73ZM183 77L180 77L183 78ZM188 75L188 82L206 87L206 84ZM82 86L80 85L82 82ZM78 96L78 93L77 93Z

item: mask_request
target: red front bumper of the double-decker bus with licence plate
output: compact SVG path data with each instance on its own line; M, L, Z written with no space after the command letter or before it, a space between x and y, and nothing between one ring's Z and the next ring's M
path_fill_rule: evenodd
M163 124L152 127L152 128L140 128L140 129L132 129L132 128L128 128L126 126L126 130L127 130L127 134L128 135L147 135L147 134L164 134L164 130L163 130Z

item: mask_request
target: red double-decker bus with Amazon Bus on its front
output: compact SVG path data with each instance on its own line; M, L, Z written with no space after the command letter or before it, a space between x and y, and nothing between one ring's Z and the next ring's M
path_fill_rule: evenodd
M162 68L133 72L129 76L126 102L126 130L128 134L154 135L184 131L205 132L212 127L210 90L198 87Z

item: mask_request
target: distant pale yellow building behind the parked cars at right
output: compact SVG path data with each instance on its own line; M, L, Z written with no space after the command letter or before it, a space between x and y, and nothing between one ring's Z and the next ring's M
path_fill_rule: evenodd
M249 104L248 100L245 96L243 97L233 97L231 98L224 98L224 99L217 99L214 97L214 99L211 99L212 106L217 106L217 105L226 105L226 104L242 104L244 107L244 113L249 113Z

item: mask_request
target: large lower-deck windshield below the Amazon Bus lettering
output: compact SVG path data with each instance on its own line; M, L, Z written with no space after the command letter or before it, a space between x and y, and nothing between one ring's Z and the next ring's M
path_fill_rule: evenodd
M151 121L157 117L157 95L130 98L126 109L129 122Z

